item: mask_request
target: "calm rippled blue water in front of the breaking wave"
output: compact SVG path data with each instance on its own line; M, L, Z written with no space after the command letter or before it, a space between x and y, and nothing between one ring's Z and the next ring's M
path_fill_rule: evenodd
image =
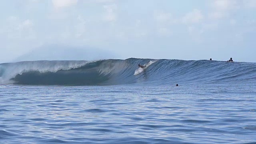
M0 96L0 143L256 142L256 100L252 94L241 96L235 94L237 88L231 87L219 93L216 92L219 87L209 86L184 86L173 92L172 88L160 86L140 91L145 89L143 86L10 88Z

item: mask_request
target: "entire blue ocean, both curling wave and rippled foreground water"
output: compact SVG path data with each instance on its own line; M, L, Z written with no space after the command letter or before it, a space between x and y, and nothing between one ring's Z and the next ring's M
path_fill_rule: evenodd
M0 144L255 143L256 63L0 64Z

